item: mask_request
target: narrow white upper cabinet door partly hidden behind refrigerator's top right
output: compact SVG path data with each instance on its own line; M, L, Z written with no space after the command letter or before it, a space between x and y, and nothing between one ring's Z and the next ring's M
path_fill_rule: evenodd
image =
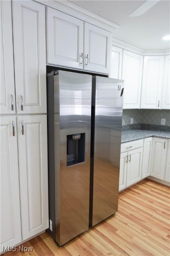
M123 49L112 45L110 78L122 79Z

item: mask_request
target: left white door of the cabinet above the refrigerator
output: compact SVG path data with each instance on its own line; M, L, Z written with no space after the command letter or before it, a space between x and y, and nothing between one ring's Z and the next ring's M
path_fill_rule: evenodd
M47 7L47 62L83 68L84 22Z

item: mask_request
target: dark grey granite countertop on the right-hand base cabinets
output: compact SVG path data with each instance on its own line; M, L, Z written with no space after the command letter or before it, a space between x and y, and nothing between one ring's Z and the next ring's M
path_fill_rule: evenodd
M148 137L159 137L170 139L170 132L156 130L124 130L122 131L121 143L145 139Z

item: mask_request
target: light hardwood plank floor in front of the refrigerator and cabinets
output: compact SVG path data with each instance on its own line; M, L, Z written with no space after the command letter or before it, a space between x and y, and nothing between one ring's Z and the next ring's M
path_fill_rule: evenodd
M107 220L57 247L48 233L24 246L32 252L8 255L170 255L170 188L145 179L119 194L119 210Z

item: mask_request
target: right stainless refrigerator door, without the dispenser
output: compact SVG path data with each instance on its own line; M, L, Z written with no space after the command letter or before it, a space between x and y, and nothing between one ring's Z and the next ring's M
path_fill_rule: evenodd
M118 210L123 80L93 77L94 161L91 167L90 224ZM93 145L92 145L93 146ZM93 180L93 182L92 182Z

